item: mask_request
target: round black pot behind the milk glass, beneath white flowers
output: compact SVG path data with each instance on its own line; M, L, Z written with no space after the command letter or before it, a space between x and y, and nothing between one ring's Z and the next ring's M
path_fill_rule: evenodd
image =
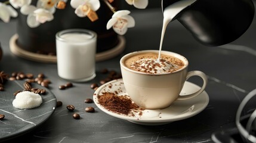
M100 8L96 11L98 20L92 22L88 17L78 17L75 9L67 6L64 10L56 10L54 20L41 24L38 27L27 26L27 15L19 13L17 22L17 45L30 52L40 54L55 54L55 34L64 29L90 29L97 33L97 52L107 51L118 44L118 35L113 29L106 29L107 21L112 17L113 12L109 10L103 1L100 1ZM33 1L36 5L36 1ZM112 3L118 5L118 1Z

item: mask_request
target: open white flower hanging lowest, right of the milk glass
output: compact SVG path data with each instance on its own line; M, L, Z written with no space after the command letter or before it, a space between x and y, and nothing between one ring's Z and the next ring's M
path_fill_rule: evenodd
M107 22L107 29L113 27L113 30L119 35L124 35L127 29L135 26L135 20L133 17L128 15L130 11L121 10L116 11L112 15L112 18Z

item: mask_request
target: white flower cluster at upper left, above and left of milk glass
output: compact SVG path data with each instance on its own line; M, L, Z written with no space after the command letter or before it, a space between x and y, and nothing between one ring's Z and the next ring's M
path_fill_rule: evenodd
M27 25L31 28L38 27L46 21L53 20L53 12L45 10L44 8L36 8L33 5L24 5L20 12L27 15Z

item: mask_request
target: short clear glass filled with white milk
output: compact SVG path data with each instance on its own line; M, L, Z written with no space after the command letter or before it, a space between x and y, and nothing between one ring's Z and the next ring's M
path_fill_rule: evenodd
M97 34L87 29L67 29L55 37L58 76L73 82L93 79Z

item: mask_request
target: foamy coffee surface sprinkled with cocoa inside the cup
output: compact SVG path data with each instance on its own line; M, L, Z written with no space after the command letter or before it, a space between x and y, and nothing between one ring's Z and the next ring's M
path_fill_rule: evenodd
M162 55L158 60L157 53L134 55L125 61L125 65L132 70L147 74L171 73L184 66L183 61L168 55Z

